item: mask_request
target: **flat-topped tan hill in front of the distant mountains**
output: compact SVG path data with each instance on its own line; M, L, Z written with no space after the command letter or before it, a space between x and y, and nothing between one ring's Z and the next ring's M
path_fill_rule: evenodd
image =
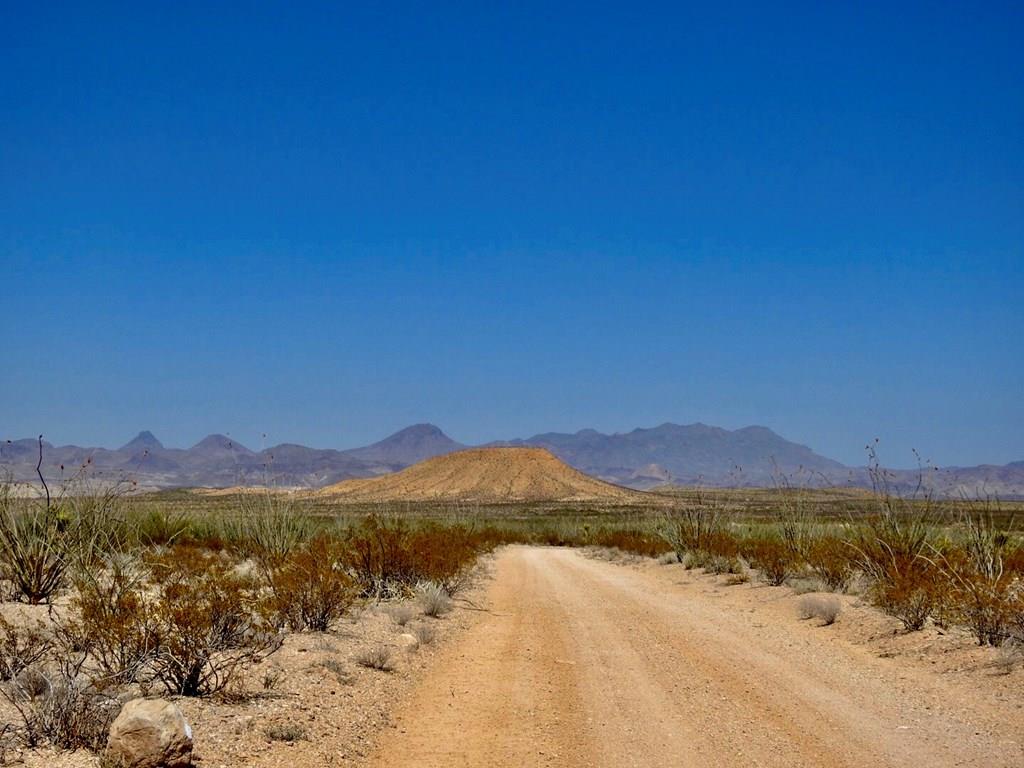
M641 502L646 495L586 475L545 449L484 447L436 456L394 474L319 494L343 502Z

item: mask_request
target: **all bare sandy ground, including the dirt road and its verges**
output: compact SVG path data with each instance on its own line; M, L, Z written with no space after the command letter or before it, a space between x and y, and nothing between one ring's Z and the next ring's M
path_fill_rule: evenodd
M799 621L786 587L596 554L504 548L442 620L400 627L370 606L327 635L290 636L242 699L177 699L197 764L1024 766L1024 669L1000 674L964 632L906 634L851 596L821 627ZM404 647L416 625L435 642ZM356 663L377 645L394 650L393 672ZM0 701L0 720L11 716ZM270 739L283 723L306 738Z

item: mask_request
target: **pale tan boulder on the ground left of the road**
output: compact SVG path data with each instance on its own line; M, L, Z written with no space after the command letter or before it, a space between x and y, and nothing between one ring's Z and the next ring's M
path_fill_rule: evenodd
M172 702L134 698L111 725L104 759L123 768L185 768L191 765L191 728Z

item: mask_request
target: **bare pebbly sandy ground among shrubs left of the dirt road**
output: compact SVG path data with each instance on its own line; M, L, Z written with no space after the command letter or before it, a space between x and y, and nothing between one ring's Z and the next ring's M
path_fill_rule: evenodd
M480 577L489 558L480 564ZM253 668L230 695L212 698L175 697L195 734L194 760L201 768L322 768L362 765L374 737L389 722L390 712L432 666L440 649L477 621L473 602L486 583L456 601L440 617L424 616L415 601L368 605L355 610L328 633L288 635L284 646ZM399 626L390 611L408 605L413 616ZM58 610L62 610L59 606ZM0 605L9 621L46 623L45 606ZM432 630L430 642L411 645L417 627ZM403 637L404 636L404 637ZM393 669L382 672L358 664L360 654L385 646ZM266 684L264 683L266 681ZM153 691L159 695L158 690ZM0 697L0 723L18 722ZM305 737L294 742L271 739L267 730L299 725ZM0 764L26 768L96 768L99 760L84 750L74 753L29 750L8 744Z

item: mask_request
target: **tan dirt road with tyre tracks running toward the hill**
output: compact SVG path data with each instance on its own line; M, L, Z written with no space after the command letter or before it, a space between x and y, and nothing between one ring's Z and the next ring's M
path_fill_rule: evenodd
M495 577L490 613L442 653L372 765L1024 765L1019 707L1007 719L827 629L765 629L573 550L509 548Z

